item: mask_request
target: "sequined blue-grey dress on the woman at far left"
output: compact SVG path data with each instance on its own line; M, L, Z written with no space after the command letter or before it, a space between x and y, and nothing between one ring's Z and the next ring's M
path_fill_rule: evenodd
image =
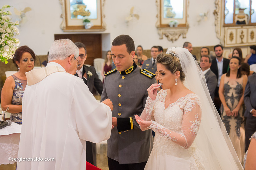
M12 104L21 105L23 93L24 93L25 87L27 85L27 80L21 80L14 75L12 75L12 77L15 82L15 86L13 89L13 95L12 95ZM22 123L22 112L11 113L10 120L17 124L21 124Z

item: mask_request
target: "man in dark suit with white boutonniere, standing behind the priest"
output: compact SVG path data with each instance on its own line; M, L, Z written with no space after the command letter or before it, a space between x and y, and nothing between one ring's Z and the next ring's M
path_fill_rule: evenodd
M101 95L103 91L103 83L99 79L99 76L96 73L96 70L93 66L86 66L84 62L87 58L86 47L83 43L76 42L75 45L79 49L79 64L81 64L77 70L75 76L83 79L84 83L88 86L89 90L92 92L93 87ZM81 89L82 90L82 89ZM96 144L86 141L86 161L96 166Z

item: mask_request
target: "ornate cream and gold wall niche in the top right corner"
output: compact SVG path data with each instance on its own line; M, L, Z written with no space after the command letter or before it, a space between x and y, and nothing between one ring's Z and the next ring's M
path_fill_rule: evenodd
M254 23L254 9L251 6L251 4L255 3L254 1L255 0L215 1L215 29L217 37L224 47L250 46L256 44L256 23Z

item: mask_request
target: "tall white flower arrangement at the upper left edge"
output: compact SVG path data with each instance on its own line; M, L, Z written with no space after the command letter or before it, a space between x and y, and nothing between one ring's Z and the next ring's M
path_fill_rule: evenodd
M4 5L0 8L0 61L5 64L8 63L8 59L12 58L20 45L19 40L15 38L19 34L19 29L16 27L19 25L19 21L15 23L10 21L11 18L8 15L12 14L10 11L5 11L10 7L10 5Z

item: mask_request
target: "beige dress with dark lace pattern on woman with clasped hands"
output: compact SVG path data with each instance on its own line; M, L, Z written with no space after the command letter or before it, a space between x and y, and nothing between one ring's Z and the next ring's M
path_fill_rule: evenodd
M224 97L227 106L232 112L239 103L243 95L243 77L239 79L230 79L225 75L224 78ZM223 104L221 104L222 121L226 127L231 142L235 148L240 162L243 162L245 150L245 131L244 131L244 116L243 106L240 107L238 115L227 116Z

